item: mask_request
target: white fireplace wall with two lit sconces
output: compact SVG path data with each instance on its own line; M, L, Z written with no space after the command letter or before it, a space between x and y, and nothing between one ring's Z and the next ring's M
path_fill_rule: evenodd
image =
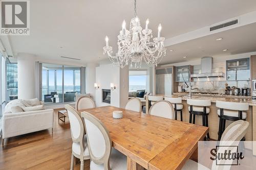
M102 64L96 67L95 82L99 89L95 90L96 106L116 106L123 107L128 100L129 89L129 69L113 66L113 64ZM102 103L102 89L111 89L110 83L114 83L115 90L111 90L111 104Z

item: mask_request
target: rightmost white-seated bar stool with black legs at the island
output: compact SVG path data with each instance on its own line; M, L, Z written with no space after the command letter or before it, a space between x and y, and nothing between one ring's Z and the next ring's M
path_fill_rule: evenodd
M249 110L248 103L216 101L216 107L220 108L217 114L220 118L218 140L225 131L226 120L237 121L246 119L246 110ZM245 140L243 138L242 140Z

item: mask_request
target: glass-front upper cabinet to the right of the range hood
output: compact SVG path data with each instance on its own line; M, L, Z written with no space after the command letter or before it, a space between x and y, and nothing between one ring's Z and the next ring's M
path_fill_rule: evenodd
M250 58L226 61L226 80L250 80Z

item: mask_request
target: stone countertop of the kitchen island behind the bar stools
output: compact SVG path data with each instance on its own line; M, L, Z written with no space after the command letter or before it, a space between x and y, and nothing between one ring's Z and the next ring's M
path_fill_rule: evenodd
M171 98L181 98L182 100L187 100L189 98L188 95L171 95L166 96ZM252 101L250 99L244 99L244 98L227 98L225 96L223 97L213 97L213 96L196 96L192 94L192 99L209 99L212 103L216 103L216 101L225 101L225 102L242 102L242 103L249 103L249 106L256 106L256 101Z

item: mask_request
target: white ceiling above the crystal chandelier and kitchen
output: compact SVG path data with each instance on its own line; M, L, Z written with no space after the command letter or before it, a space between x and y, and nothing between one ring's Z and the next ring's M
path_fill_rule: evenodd
M256 1L138 0L137 11L142 25L146 18L150 19L149 27L154 30L153 36L156 35L157 26L161 22L163 27L161 35L172 38L256 11ZM110 45L116 50L117 34L121 29L122 20L129 22L132 17L132 0L33 0L30 1L30 36L10 36L10 44L14 54L31 53L45 59L78 63L98 62L103 59L102 47L105 35L109 36ZM252 27L255 30L255 26ZM249 29L249 31L253 30ZM251 39L250 33L246 33L246 37ZM235 33L231 31L228 34ZM222 36L228 37L224 34ZM245 44L237 49L241 46L238 44L241 42L240 38L229 40L224 37L225 41L218 45L214 45L215 41L210 42L214 38L215 35L211 35L201 40L174 45L172 48L177 50L173 54L168 52L163 62L177 62L180 60L179 56L183 55L196 57L199 53L207 56L219 54L220 46L225 42L223 48L230 48L232 53L251 50ZM242 42L246 43L245 40ZM199 47L203 48L203 54L198 50ZM238 52L235 51L236 49ZM60 56L78 58L81 61L63 59Z

